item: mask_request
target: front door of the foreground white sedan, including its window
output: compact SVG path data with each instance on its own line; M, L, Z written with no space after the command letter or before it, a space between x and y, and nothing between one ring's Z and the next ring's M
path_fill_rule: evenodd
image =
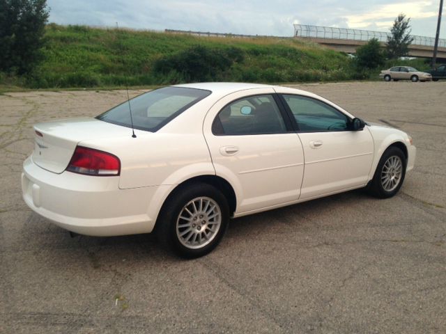
M349 130L350 118L321 100L282 96L297 122L305 154L300 199L365 185L374 152L369 129Z

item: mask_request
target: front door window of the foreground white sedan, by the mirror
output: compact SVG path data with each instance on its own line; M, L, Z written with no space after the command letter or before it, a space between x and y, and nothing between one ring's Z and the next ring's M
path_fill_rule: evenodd
M342 131L349 119L324 102L300 95L283 95L302 132Z

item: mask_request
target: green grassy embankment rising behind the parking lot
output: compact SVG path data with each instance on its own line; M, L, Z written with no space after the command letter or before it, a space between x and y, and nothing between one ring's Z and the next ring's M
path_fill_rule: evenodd
M198 37L49 24L45 39L44 61L35 72L26 78L0 74L1 90L157 86L190 81L186 71L160 72L155 64L162 59L181 58L197 46L212 50L213 54L230 54L234 49L242 54L227 68L210 67L206 77L197 81L314 82L368 79L371 74L376 75L358 73L346 54L293 38Z

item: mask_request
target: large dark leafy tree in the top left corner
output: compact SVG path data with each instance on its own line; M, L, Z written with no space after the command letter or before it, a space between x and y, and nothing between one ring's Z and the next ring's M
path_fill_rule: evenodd
M46 0L0 0L0 70L26 74L41 58Z

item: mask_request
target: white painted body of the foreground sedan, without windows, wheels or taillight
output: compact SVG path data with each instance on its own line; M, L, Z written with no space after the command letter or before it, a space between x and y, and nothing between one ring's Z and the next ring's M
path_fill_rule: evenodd
M211 126L229 102L247 95L286 93L332 102L292 88L254 84L187 84L212 94L157 132L81 118L40 123L36 148L24 161L23 198L35 212L56 225L96 236L151 232L164 201L194 177L220 177L236 195L233 216L282 207L312 198L360 188L374 176L383 152L404 145L407 170L415 146L390 127L367 125L362 131L287 132L284 134L215 136ZM312 148L312 142L323 145ZM121 161L112 177L66 171L76 145L109 152ZM222 154L222 148L238 148ZM45 151L47 150L47 151Z

